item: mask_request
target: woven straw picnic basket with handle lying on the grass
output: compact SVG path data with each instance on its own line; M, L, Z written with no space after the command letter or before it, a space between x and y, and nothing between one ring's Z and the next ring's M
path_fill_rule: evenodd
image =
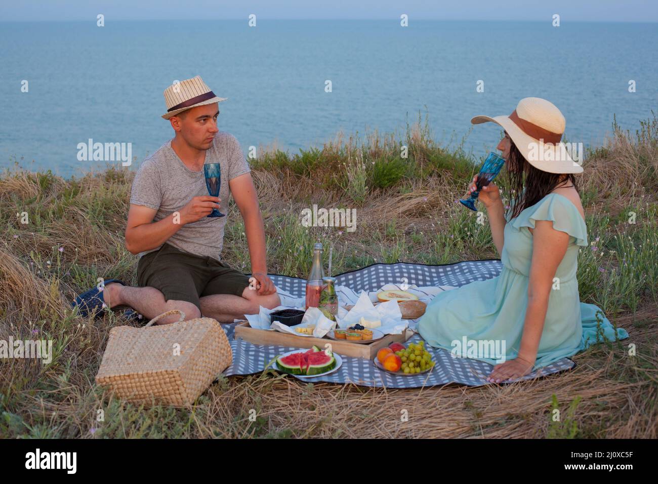
M158 319L180 313L170 325ZM143 328L114 327L96 383L134 403L190 405L232 362L231 345L209 317L183 321L178 309L154 317Z

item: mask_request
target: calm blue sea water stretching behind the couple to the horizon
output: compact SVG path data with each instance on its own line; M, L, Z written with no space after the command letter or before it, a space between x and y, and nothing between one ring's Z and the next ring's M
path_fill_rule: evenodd
M613 115L632 132L657 111L656 45L657 24L550 18L0 22L0 169L126 165L80 159L88 140L131 146L136 169L173 136L164 89L197 74L228 97L218 126L245 156L321 148L340 131L402 134L420 113L434 139L456 148L466 136L480 157L501 129L470 130L470 118L509 115L527 96L561 109L569 142L595 146Z

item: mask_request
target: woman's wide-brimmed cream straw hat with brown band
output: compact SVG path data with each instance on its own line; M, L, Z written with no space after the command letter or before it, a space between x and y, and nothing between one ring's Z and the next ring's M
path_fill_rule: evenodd
M492 121L505 128L523 157L538 170L548 173L582 173L564 143L565 117L550 101L524 97L509 116L476 116L472 124Z

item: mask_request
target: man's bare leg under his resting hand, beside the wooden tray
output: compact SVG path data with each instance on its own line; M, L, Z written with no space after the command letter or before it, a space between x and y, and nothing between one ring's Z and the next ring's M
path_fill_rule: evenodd
M212 317L220 323L232 323L234 319L244 319L245 314L258 314L259 306L276 308L281 304L279 295L259 296L257 291L245 287L242 297L234 294L211 294L201 298L201 314Z

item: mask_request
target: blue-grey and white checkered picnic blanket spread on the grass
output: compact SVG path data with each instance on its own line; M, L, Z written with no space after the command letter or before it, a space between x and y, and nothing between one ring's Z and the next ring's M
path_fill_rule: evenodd
M384 284L400 284L404 281L416 286L463 286L473 281L484 281L499 275L501 263L498 259L464 261L445 265L424 265L398 262L393 264L374 264L349 271L336 276L337 284L345 285L359 293L378 290ZM403 279L405 278L405 279ZM270 279L285 294L301 298L305 294L306 281L296 277L270 275ZM413 327L413 325L410 325ZM233 363L224 371L224 375L249 375L265 369L276 356L294 350L286 346L257 345L234 339L235 325L222 325L228 335L233 349ZM407 342L418 342L422 338L414 335ZM393 375L380 371L369 360L342 356L343 364L334 373L322 377L300 378L307 382L354 383L365 387L417 388L447 383L462 383L469 386L488 385L486 377L493 367L488 363L469 358L455 358L447 350L426 346L436 362L429 373L418 375ZM569 358L563 358L547 367L520 378L530 380L551 373L558 373L576 366ZM293 375L290 375L294 378Z

